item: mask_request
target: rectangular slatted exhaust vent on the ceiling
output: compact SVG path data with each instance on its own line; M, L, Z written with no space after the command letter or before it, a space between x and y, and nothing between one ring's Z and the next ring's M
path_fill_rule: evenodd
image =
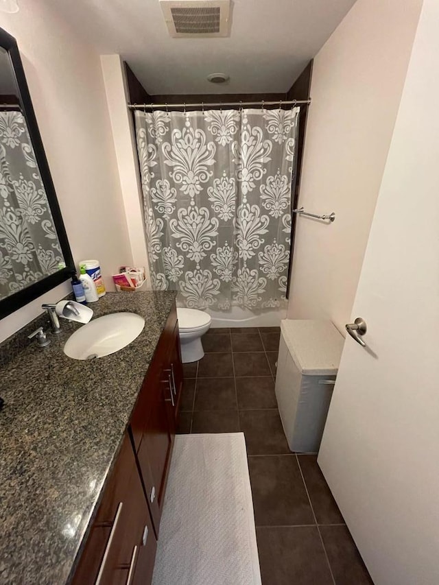
M228 36L230 0L160 0L175 38Z

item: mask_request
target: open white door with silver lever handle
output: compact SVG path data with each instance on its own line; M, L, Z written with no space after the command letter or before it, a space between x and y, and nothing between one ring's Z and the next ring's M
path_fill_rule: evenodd
M438 55L425 0L318 456L376 585L439 583Z

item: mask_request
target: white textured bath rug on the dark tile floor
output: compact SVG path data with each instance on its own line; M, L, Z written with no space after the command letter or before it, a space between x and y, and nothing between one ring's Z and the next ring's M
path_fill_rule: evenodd
M261 585L244 433L176 436L153 585Z

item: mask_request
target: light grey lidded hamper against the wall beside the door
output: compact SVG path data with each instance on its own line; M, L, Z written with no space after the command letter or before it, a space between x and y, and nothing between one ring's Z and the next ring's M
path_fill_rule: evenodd
M318 452L343 344L331 321L281 321L275 390L291 451Z

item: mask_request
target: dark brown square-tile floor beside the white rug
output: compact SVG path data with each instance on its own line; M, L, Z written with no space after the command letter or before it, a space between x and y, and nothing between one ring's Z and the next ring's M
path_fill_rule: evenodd
M246 437L263 585L369 585L316 455L290 453L274 381L278 327L210 329L183 366L180 433Z

